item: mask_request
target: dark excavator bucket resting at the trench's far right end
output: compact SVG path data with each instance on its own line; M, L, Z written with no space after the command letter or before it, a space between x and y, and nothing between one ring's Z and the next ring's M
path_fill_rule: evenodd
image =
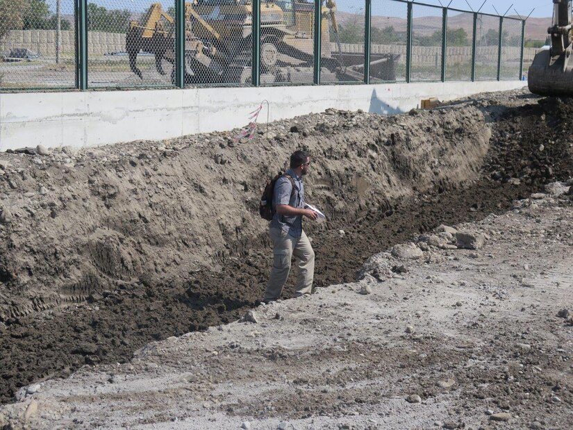
M529 91L541 96L573 96L573 67L563 67L565 55L550 65L549 49L535 54L527 77Z

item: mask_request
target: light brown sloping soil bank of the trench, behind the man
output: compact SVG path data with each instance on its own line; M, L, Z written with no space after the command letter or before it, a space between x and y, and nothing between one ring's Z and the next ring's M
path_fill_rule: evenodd
M314 156L308 199L346 222L415 189L475 179L490 138L474 107L295 121L293 132L276 124L274 138L239 145L213 134L76 156L7 156L0 319L101 295L117 281L153 285L244 258L266 228L258 217L265 178L299 147Z

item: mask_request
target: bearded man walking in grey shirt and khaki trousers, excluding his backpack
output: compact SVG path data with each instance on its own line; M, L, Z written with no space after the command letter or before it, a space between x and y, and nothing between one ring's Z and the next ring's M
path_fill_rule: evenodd
M290 272L294 254L298 260L297 297L310 294L315 275L315 251L302 229L302 217L316 220L314 210L304 208L302 177L310 169L310 156L295 151L290 156L290 169L276 180L272 207L274 216L269 225L273 245L273 265L263 301L279 299Z

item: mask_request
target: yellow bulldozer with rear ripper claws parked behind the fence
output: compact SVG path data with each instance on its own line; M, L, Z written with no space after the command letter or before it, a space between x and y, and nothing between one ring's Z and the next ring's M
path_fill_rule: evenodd
M323 81L362 81L364 56L343 53L334 0L322 6ZM251 0L194 0L185 3L185 83L244 84L251 81ZM131 71L142 78L138 53L153 53L156 69L165 74L163 60L174 65L175 20L153 3L140 22L131 22L126 51ZM312 82L314 65L314 2L262 0L260 8L260 81ZM331 49L331 33L338 50ZM397 56L378 54L371 59L373 77L395 80ZM172 68L172 82L175 80Z

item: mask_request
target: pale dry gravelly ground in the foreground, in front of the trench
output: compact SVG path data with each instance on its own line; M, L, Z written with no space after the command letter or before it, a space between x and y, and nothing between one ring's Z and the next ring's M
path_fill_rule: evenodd
M422 256L397 258L400 246L376 254L358 282L23 388L0 424L570 429L573 204L556 196L569 189L456 226L483 235L478 249L421 236L412 247Z

